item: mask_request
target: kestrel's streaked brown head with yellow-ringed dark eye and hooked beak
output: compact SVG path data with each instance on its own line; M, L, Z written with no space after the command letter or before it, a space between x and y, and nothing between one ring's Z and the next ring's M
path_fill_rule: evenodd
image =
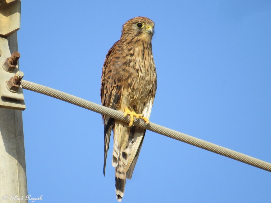
M154 32L154 22L146 17L135 17L123 25L121 38L138 38L150 41Z

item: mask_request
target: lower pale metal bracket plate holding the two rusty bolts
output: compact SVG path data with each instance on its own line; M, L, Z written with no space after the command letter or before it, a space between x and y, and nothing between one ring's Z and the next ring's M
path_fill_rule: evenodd
M6 59L11 56L8 40L6 37L0 36L0 107L8 109L25 110L24 95L22 93L22 86L18 88L17 92L11 92L7 88L7 81L14 77L17 71L19 71L18 66L12 71L8 72L3 64Z

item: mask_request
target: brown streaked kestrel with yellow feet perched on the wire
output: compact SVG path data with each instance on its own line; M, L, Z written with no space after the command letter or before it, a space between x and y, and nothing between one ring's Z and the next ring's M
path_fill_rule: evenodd
M131 179L146 130L133 126L134 119L146 125L157 87L151 39L154 22L146 17L128 20L120 40L108 51L101 79L103 106L130 115L130 123L103 116L104 175L111 130L114 132L112 165L115 167L116 196L120 202L127 179Z

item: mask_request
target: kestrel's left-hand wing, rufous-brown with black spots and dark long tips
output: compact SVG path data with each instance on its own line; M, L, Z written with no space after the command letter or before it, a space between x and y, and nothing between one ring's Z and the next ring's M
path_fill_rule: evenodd
M104 66L102 69L102 79L101 79L101 102L103 106L109 107L111 109L116 109L120 105L122 96L122 86L117 82L117 79L112 74L112 57L114 55L115 47L117 42L108 51ZM104 120L104 175L105 175L105 165L107 152L109 148L109 141L111 136L112 128L114 127L114 119L102 115Z

